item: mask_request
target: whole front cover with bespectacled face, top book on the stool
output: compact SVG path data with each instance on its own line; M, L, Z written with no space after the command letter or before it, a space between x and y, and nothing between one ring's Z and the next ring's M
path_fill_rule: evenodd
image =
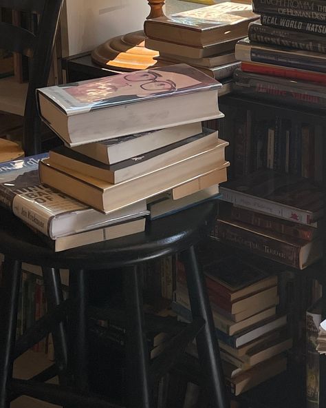
M126 72L65 85L41 88L66 114L80 114L159 97L221 88L221 84L186 65Z

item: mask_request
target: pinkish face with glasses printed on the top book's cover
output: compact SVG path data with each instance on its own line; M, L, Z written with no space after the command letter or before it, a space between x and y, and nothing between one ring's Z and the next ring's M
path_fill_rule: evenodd
M151 96L199 84L188 75L164 71L136 71L87 81L65 91L80 102L95 103L121 96Z

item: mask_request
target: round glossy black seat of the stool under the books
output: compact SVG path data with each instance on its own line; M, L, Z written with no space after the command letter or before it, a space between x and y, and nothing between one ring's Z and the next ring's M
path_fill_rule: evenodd
M144 232L63 252L54 252L19 218L0 210L0 253L43 267L102 269L135 265L198 243L212 225L216 206L215 201L208 201L146 223Z

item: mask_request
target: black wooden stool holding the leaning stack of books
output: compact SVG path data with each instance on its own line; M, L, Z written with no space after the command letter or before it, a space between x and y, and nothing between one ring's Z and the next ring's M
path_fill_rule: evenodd
M186 267L189 297L193 314L192 333L197 335L199 362L212 407L227 408L228 402L221 370L219 347L208 302L204 278L199 270L194 245L206 236L216 214L213 202L148 223L144 233L117 238L54 253L41 238L18 218L0 211L0 253L4 254L0 309L0 408L10 400L28 395L65 407L116 407L105 398L87 390L86 271L121 268L127 326L127 407L153 407L153 367L149 367L144 312L138 265L144 261L182 252ZM48 312L15 341L21 263L41 265ZM69 269L69 298L63 301L58 268ZM68 316L68 323L66 317ZM67 332L76 336L67 347ZM12 378L12 364L48 332L54 338L56 364L30 380ZM188 333L189 334L189 333ZM187 329L182 336L187 338ZM188 341L190 338L188 338ZM178 341L174 346L178 347ZM172 341L173 346L173 341ZM172 348L170 347L172 351ZM169 355L166 354L166 360ZM161 358L162 363L162 358ZM166 363L166 362L165 362ZM156 364L157 365L157 364ZM160 367L156 367L157 372ZM59 376L60 385L45 384ZM129 381L128 381L129 379Z

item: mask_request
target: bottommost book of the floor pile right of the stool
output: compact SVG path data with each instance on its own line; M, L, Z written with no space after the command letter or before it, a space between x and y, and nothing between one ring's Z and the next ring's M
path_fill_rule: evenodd
M263 383L269 378L281 374L281 372L286 370L286 367L287 358L282 355L276 356L252 367L252 369L249 369L238 376L235 376L235 378L226 378L226 383L228 387L230 387L231 394L238 396L244 391L248 391L248 389ZM224 371L226 371L225 366ZM226 376L228 377L228 374L226 374Z

